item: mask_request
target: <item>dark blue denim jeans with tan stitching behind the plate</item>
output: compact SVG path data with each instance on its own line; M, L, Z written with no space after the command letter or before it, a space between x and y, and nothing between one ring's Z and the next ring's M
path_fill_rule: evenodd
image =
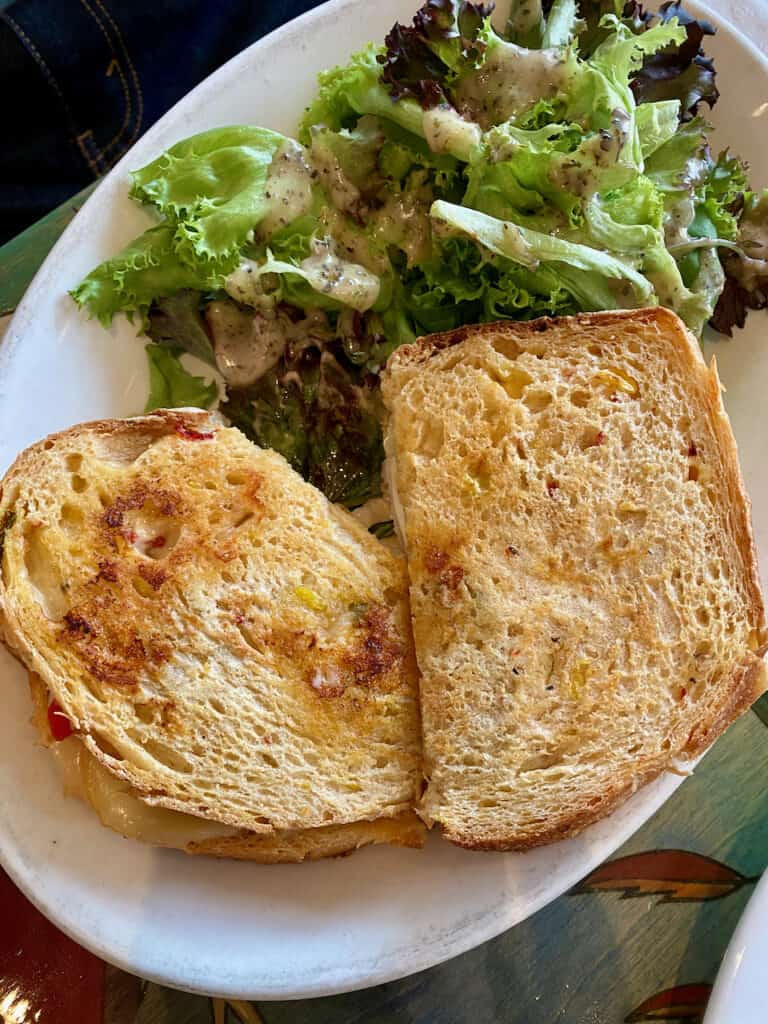
M319 0L0 0L0 244L228 57Z

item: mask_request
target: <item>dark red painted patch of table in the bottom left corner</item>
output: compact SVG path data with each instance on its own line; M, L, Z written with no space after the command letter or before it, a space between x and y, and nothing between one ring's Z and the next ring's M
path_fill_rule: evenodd
M54 928L2 870L0 925L0 1020L102 1024L102 961Z

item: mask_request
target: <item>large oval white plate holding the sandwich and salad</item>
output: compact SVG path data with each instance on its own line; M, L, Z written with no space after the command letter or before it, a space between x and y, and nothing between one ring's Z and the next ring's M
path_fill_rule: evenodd
M193 132L254 122L291 132L314 75L382 39L416 0L337 0L240 54L142 138L51 252L0 350L0 470L31 441L99 416L135 414L146 395L142 345L125 323L104 333L68 299L94 264L146 226L127 171ZM715 18L713 18L715 19ZM718 144L768 183L768 66L723 29L712 47L723 98ZM768 552L768 317L718 345L728 407ZM231 996L323 995L401 977L498 935L554 899L635 831L679 784L647 786L578 839L527 854L473 854L433 839L423 852L369 849L349 859L258 866L190 858L123 840L65 800L28 724L25 675L0 655L0 858L40 909L83 945L135 974Z

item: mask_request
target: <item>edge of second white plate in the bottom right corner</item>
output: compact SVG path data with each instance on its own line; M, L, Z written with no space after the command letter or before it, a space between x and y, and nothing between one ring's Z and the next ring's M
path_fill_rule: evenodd
M718 972L703 1024L765 1024L768 873L746 904Z

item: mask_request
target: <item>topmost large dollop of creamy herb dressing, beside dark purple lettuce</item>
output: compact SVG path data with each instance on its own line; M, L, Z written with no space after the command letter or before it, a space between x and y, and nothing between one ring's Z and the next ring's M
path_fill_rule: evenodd
M495 46L481 68L456 88L459 112L481 128L502 124L538 99L549 99L565 85L569 68L559 48L528 50L514 43Z

